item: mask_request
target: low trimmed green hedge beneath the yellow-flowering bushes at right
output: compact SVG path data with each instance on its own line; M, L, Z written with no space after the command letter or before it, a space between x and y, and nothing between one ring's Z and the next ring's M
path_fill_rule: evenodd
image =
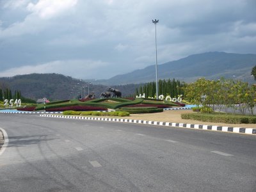
M225 124L256 124L256 116L227 115L216 113L183 113L182 119L199 120L202 122L214 122Z

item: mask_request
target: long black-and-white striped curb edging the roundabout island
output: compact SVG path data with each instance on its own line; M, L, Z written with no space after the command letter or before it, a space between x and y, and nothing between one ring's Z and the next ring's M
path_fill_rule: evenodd
M88 116L64 116L64 115L40 115L46 117L55 117L55 118L73 118L73 119L83 119L83 120L100 120L108 122L124 122L124 123L134 123L134 124L148 124L148 125L161 125L167 127L182 127L182 128L191 128L191 129L202 129L209 131L221 131L221 132L236 132L243 134L255 134L256 128L243 128L243 127L223 127L218 125L200 125L200 124L178 124L170 122L155 122L147 120L131 120L125 118L100 118L100 117L88 117Z

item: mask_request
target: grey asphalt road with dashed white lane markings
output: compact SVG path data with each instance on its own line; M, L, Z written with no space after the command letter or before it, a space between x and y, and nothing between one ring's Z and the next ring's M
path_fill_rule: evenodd
M0 191L256 191L256 137L0 115Z

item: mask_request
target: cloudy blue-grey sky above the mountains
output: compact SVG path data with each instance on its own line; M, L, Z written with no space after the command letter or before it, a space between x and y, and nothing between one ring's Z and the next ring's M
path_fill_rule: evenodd
M255 10L255 0L0 0L0 77L109 79L155 65L156 34L159 64L255 54Z

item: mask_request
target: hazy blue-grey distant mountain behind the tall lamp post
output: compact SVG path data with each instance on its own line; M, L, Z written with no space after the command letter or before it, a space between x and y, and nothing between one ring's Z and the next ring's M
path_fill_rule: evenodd
M199 77L219 79L235 78L248 81L252 67L256 65L256 54L233 54L226 52L205 52L194 54L177 61L158 65L159 79L179 79L191 82ZM146 83L156 81L155 65L134 70L127 74L97 81L100 84Z

